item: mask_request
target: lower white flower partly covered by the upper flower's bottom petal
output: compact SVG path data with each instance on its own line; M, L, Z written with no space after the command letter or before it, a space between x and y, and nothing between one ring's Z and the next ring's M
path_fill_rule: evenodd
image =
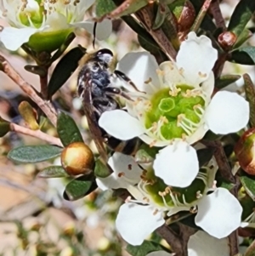
M224 188L214 191L217 165L212 159L201 168L192 184L185 188L170 187L156 177L151 164L139 167L132 156L114 153L109 164L113 174L97 178L100 189L126 188L134 199L127 198L116 218L116 229L132 245L164 224L164 213L197 212L195 224L212 236L228 236L241 225L242 208L235 196Z

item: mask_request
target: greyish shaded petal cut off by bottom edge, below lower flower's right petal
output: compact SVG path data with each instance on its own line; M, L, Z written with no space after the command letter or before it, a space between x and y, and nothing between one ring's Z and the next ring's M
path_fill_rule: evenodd
M204 231L197 231L188 242L189 256L229 256L228 239L217 239Z

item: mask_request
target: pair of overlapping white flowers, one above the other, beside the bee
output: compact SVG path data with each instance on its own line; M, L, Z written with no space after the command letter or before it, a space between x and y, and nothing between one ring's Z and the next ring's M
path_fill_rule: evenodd
M165 213L192 209L195 224L218 239L241 225L240 202L213 182L216 162L212 159L200 168L192 147L208 130L235 133L249 119L248 102L239 94L214 90L212 67L217 58L208 37L190 32L176 61L158 66L154 56L141 52L127 54L117 66L138 91L122 84L133 101L127 102L126 110L105 111L99 126L117 139L139 137L162 148L147 165L115 153L109 161L114 173L97 179L103 190L126 188L132 196L116 219L117 230L130 244L141 244L163 225Z

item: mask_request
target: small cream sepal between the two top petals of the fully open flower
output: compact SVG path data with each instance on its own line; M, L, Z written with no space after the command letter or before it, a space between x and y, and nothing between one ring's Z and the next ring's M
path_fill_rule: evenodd
M165 61L160 65L161 71L163 73L159 76L162 76L162 82L170 86L178 85L178 84L185 84L185 79L181 76L178 68L172 61Z

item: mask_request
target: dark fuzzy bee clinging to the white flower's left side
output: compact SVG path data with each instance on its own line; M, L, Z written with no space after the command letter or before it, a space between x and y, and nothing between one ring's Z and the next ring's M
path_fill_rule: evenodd
M126 141L116 139L107 134L98 124L99 117L103 112L122 108L117 97L131 100L121 88L116 87L112 82L114 77L122 82L128 82L138 90L122 71L114 70L114 63L114 55L107 48L92 54L85 54L81 60L82 68L77 77L77 94L82 98L84 112L88 119L88 128L104 162L107 162L108 159L104 143L111 150L127 155L133 155L138 150L140 143L139 139Z

